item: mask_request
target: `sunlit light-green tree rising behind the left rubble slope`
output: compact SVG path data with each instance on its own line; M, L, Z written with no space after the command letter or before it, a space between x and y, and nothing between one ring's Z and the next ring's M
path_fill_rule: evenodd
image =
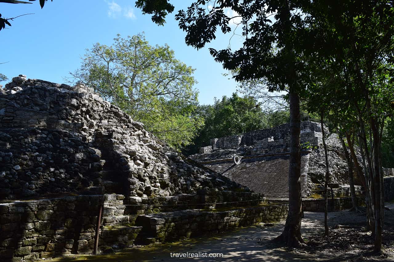
M179 150L203 124L193 113L198 105L193 72L168 45L151 46L141 33L117 35L111 46L94 44L71 75Z

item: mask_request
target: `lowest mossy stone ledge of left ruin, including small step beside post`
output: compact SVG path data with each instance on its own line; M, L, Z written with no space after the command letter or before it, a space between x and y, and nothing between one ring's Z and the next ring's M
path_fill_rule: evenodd
M284 220L287 209L287 205L264 204L246 208L174 210L137 215L136 217L134 215L111 216L115 221L125 221L112 222L115 224L108 225L106 222L109 220L104 218L101 237L106 242L121 245L172 242L208 233L216 234L259 222ZM126 221L127 218L128 221ZM132 221L134 219L135 221Z

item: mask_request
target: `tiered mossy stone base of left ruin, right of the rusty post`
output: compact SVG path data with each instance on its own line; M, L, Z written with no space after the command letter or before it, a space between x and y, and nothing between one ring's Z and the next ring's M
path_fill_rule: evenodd
M262 194L214 192L142 198L105 195L102 245L148 245L215 234L286 218L287 205L268 205ZM258 200L256 200L258 199ZM101 245L100 244L100 245Z

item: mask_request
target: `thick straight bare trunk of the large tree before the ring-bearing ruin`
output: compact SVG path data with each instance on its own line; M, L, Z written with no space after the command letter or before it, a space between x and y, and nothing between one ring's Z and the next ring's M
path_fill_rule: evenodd
M300 247L301 236L301 150L299 96L290 89L290 159L289 159L289 212L284 231L276 238L288 247Z

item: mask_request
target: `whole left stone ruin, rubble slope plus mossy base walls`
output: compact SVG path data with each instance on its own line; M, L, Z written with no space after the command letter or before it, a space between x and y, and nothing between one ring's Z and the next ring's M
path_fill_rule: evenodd
M88 87L14 77L0 92L1 261L91 253L100 207L102 252L287 214L173 151Z

